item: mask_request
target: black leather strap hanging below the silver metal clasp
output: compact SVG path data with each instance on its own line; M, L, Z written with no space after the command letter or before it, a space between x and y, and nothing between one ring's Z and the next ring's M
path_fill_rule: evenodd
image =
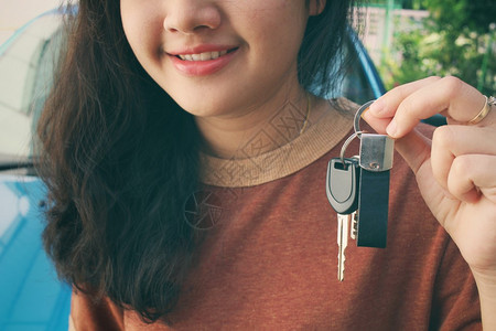
M385 248L388 229L389 170L360 170L356 245Z

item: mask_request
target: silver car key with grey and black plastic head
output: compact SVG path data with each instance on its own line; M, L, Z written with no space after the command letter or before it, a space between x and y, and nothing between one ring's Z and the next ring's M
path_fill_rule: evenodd
M344 280L345 250L348 245L349 224L358 207L359 163L357 158L334 158L327 164L326 193L337 213L337 279ZM353 228L352 228L353 234Z

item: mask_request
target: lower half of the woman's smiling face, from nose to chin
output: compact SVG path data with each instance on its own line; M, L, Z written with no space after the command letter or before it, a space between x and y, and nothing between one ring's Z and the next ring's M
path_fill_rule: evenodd
M296 55L317 0L121 0L126 36L150 76L195 116L249 111L298 86Z

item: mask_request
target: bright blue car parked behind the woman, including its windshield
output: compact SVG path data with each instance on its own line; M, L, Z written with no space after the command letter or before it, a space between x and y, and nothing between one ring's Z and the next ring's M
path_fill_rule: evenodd
M0 46L0 330L67 330L71 288L57 280L41 242L45 188L31 162L33 129L52 85L62 12L51 11ZM353 65L341 90L357 104L384 94L349 30Z

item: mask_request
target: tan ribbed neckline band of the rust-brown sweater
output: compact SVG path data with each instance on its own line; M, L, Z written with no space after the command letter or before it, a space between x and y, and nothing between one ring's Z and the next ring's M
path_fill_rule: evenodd
M341 109L355 108L346 99L338 99L336 105ZM246 159L220 159L201 153L201 182L223 188L247 188L288 177L333 149L352 126L352 113L330 109L319 120L309 121L295 139L271 151Z

